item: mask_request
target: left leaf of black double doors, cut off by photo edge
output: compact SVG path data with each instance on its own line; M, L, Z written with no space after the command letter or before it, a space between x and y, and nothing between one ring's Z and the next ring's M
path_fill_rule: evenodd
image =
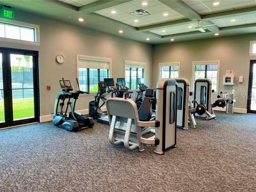
M0 49L0 128L7 127L9 124L5 53L6 51L4 49Z

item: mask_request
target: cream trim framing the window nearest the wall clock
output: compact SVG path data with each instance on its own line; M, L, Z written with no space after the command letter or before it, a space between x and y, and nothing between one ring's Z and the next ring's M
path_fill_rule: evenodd
M96 61L106 61L109 62L109 70L108 70L108 78L112 77L112 59L111 58L105 58L105 57L95 57L95 56L88 56L88 55L76 55L76 77L79 80L79 58L84 58L84 59L90 59L90 60L96 60ZM78 86L77 86L77 90L78 90ZM79 95L79 97L84 97L84 96L94 96L97 93L92 92L90 94L81 94Z

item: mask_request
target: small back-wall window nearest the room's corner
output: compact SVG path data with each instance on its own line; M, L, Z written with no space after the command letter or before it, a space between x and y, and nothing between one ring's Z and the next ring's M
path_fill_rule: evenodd
M180 63L159 63L159 79L163 78L178 78Z

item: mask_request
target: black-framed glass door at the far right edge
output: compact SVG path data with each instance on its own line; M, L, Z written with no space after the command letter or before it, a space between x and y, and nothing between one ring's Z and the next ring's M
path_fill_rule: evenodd
M247 112L256 113L256 60L250 61Z

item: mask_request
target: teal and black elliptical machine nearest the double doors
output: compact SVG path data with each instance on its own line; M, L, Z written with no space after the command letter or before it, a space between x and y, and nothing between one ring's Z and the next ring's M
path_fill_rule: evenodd
M74 93L70 93L70 91L73 91L73 88L69 80L64 80L64 78L62 78L62 80L60 80L59 82L60 82L60 87L62 89L62 92L59 92L56 95L53 120L52 120L53 124L58 127L64 128L68 131L78 131L80 129L93 127L94 121L92 118L82 116L80 113L74 112L76 100L78 99L78 96L80 94L85 94L85 93L89 94L89 93L80 91L78 79L76 79L76 82L78 84L79 90ZM68 99L68 102L67 102L65 113L63 113L65 99ZM72 99L72 102L70 102L71 99ZM60 103L60 101L62 102ZM60 113L58 112L59 105L60 105ZM69 113L69 117L67 117L69 106L71 111Z

